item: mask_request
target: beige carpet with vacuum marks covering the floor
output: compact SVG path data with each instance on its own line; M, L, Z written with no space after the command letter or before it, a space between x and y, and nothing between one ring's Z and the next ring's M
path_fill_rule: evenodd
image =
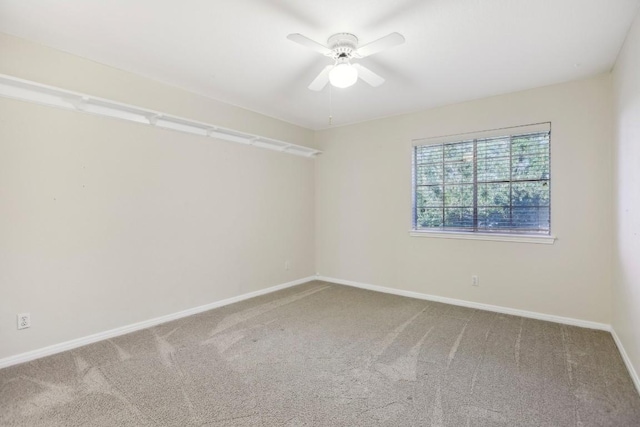
M640 426L606 332L312 282L0 370L2 426Z

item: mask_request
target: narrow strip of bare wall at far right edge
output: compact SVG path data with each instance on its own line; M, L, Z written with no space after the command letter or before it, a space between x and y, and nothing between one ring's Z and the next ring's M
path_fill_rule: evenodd
M640 373L640 16L613 72L613 327Z

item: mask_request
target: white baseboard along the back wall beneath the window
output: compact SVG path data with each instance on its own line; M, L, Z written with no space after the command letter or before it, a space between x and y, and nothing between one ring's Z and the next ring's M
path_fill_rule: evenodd
M571 317L555 316L553 314L537 313L535 311L518 310L515 308L501 307L498 305L483 304L480 302L465 301L455 298L441 297L437 295L423 294L420 292L404 291L402 289L387 288L384 286L370 285L367 283L354 282L351 280L335 279L332 277L317 276L317 280L336 283L338 285L353 286L370 291L384 292L386 294L400 295L403 297L417 298L428 301L442 302L445 304L459 305L468 308L477 308L479 310L494 311L496 313L511 314L513 316L528 317L531 319L546 320L549 322L562 323L565 325L580 326L582 328L598 329L602 331L611 331L611 325L605 323L591 322L589 320L573 319Z

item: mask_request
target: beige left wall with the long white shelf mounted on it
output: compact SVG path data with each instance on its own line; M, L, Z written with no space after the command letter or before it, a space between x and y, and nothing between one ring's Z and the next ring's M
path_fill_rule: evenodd
M0 73L313 133L0 36ZM0 98L0 358L314 273L314 160ZM290 260L290 270L284 269ZM32 327L16 330L16 314Z

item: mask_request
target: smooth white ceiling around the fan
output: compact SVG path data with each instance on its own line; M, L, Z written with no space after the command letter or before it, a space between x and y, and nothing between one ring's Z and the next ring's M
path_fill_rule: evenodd
M406 43L361 60L387 79L333 89L333 124L612 68L640 0L0 0L0 32L312 129L328 127L330 60L286 39Z

